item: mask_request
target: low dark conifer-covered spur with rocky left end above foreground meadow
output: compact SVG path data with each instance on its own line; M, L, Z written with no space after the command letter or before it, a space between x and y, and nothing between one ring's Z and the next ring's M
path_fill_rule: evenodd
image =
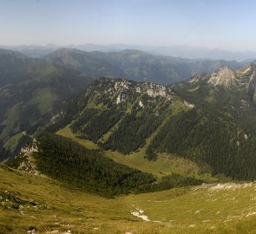
M104 197L135 192L155 181L151 174L119 165L96 150L50 133L43 133L24 147L11 166Z

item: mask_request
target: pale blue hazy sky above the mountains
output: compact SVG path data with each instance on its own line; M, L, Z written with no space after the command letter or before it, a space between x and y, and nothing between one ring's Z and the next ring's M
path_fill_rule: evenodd
M254 0L0 0L0 44L256 50Z

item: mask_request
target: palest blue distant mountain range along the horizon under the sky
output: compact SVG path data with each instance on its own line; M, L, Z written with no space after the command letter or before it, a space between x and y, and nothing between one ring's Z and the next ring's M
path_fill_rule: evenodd
M20 46L0 46L3 49L12 49L28 55L30 57L41 57L47 55L61 47L54 44L46 46L41 45L20 45ZM69 44L64 48L75 48L84 51L100 51L100 52L118 52L125 49L137 49L148 52L153 55L166 55L173 57L181 57L187 59L207 59L207 60L235 60L238 62L251 62L256 59L255 51L228 51L225 49L207 49L200 47L191 47L187 45L177 46L145 46L145 45L128 45L128 44Z

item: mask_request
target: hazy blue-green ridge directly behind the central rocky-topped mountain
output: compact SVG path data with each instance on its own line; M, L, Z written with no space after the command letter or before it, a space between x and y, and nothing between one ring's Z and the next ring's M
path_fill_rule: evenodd
M126 49L119 52L85 52L79 49L57 49L43 56L66 68L87 75L126 77L134 81L152 81L170 84L187 80L200 72L213 72L221 66L242 68L243 63L234 61L189 60L177 57L150 55L146 52Z

